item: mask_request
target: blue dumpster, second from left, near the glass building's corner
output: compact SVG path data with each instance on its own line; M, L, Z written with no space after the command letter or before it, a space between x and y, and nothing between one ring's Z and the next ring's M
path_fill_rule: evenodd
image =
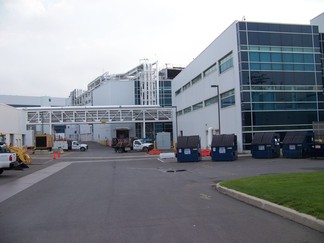
M237 159L237 136L235 134L214 135L211 143L213 161L233 161Z

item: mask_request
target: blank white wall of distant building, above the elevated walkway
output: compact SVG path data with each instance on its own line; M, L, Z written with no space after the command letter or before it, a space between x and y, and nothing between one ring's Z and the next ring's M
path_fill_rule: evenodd
M107 81L93 90L93 105L135 105L134 81Z

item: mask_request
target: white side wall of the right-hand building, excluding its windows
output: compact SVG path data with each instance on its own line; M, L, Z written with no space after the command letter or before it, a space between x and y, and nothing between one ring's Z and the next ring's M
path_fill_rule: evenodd
M216 96L217 88L211 88L211 85L218 85L220 94L235 89L235 105L220 110L221 133L236 134L240 151L242 150L242 126L237 46L236 22L234 22L173 80L172 93L173 105L177 106L177 110L180 111ZM218 61L230 52L233 53L233 67L219 74ZM216 72L202 77L202 80L191 85L179 95L175 95L177 90L214 63L217 63ZM183 135L199 135L202 148L206 148L206 131L209 127L214 129L219 127L218 104L177 116L177 123L178 135L180 131L183 131Z

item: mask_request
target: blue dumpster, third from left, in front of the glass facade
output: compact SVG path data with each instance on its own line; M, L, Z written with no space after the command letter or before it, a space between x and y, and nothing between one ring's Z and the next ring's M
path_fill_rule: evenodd
M280 156L279 134L274 132L256 133L252 139L253 158L276 158Z

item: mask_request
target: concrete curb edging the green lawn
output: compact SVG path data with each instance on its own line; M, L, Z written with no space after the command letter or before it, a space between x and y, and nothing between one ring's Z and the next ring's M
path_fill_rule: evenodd
M247 195L242 192L238 192L226 187L221 186L219 183L213 186L217 191L226 194L230 197L233 197L235 199L238 199L242 202L245 202L247 204L250 204L252 206L261 208L263 210L266 210L268 212L280 215L284 218L290 219L294 222L297 222L299 224L305 225L309 228L312 228L314 230L317 230L319 232L324 233L324 220L317 219L313 216L299 213L293 209L286 208L277 204L274 204L272 202L253 197L250 195Z

